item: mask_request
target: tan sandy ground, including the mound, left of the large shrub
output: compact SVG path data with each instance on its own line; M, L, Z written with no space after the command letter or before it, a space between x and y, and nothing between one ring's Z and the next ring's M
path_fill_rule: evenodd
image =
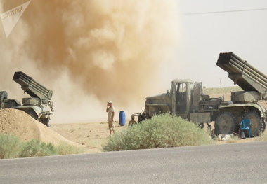
M126 129L115 122L115 132ZM52 124L46 127L23 111L0 109L0 134L13 134L21 141L37 139L58 145L67 143L85 148L86 153L99 153L109 136L107 122Z

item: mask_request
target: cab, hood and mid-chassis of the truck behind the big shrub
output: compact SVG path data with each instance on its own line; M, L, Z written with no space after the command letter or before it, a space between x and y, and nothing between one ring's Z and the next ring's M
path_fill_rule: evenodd
M190 79L175 79L171 82L171 90L145 101L146 118L154 114L171 113L183 119L199 124L212 122L212 115L223 104L223 98L210 98L203 94L202 83Z

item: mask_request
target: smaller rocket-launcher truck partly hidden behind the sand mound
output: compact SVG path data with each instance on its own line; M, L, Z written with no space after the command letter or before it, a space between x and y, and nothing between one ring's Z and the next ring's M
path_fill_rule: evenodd
M1 91L0 108L15 108L25 111L35 120L49 126L50 115L53 112L53 103L51 102L53 91L46 89L21 71L15 72L13 80L21 85L22 90L29 94L30 98L23 98L22 104L20 104L20 101L16 99L9 99L6 91Z

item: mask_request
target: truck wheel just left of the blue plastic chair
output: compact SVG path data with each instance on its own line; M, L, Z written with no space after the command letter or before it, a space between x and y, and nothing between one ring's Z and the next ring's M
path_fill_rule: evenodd
M233 113L223 111L215 120L215 134L232 134L237 128L236 118Z

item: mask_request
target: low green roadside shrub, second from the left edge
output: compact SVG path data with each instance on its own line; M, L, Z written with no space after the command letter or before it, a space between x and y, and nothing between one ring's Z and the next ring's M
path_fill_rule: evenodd
M41 157L48 155L56 155L56 148L51 143L44 143L34 139L22 143L20 157Z

